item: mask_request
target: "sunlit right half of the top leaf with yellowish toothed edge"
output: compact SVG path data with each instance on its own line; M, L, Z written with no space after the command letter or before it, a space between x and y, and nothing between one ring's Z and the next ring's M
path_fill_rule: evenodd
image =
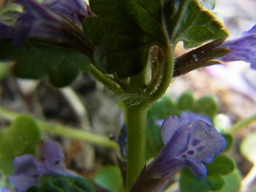
M168 19L171 18L171 15L167 17L170 39L174 44L183 41L184 46L190 48L228 35L226 30L222 30L222 24L210 11L202 9L197 0L167 0L166 2L175 4L178 9L173 19ZM168 9L166 9L166 13L167 15L173 14L169 13Z

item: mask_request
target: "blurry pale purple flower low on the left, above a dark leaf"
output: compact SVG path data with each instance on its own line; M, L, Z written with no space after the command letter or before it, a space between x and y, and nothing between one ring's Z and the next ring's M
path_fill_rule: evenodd
M30 154L14 159L14 174L9 178L16 190L26 191L30 186L39 184L39 177L43 174L64 174L77 176L74 172L66 170L62 146L58 142L47 141L41 161Z

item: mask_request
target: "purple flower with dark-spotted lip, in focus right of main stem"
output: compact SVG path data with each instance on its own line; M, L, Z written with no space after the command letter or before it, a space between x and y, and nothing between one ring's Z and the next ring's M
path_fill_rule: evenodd
M170 116L162 123L162 141L165 146L160 154L139 175L132 191L154 191L184 166L198 178L206 178L206 166L225 149L221 134L202 120L183 121Z

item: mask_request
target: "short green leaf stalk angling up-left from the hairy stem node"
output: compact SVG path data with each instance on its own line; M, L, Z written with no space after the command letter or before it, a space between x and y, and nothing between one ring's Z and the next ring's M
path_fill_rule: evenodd
M93 65L90 66L89 73L96 79L98 82L101 82L104 86L110 90L121 90L120 87L112 79L107 78L99 70L97 70Z

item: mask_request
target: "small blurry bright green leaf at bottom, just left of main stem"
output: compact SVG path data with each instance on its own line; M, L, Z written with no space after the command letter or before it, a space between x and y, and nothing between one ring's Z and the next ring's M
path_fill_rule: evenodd
M104 166L95 176L94 182L112 192L124 191L122 173L118 166Z

